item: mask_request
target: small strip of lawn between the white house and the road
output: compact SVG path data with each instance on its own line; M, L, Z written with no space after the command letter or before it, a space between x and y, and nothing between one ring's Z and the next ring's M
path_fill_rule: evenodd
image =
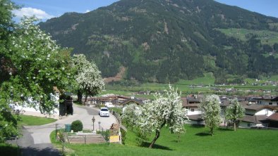
M56 119L46 118L46 117L35 117L30 115L20 115L19 125L22 126L39 126L43 124L49 124L56 122Z

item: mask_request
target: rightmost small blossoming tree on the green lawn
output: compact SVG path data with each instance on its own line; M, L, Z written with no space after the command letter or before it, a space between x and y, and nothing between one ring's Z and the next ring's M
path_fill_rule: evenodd
M232 99L231 105L226 108L225 118L234 124L234 131L236 131L236 123L238 123L238 119L244 117L244 115L245 109L238 103L238 99Z

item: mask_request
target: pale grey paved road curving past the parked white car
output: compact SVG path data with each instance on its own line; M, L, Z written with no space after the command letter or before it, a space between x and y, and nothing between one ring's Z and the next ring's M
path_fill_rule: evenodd
M65 124L71 124L76 119L83 122L83 129L92 129L92 116L95 115L95 129L100 126L103 129L109 129L111 124L116 122L116 118L111 115L110 117L99 117L97 108L88 108L86 106L73 105L73 115L59 119L51 124L44 124L42 126L24 126L23 137L18 139L22 155L60 155L56 150L49 138L52 131L55 130L55 125L58 124L59 129L64 129Z

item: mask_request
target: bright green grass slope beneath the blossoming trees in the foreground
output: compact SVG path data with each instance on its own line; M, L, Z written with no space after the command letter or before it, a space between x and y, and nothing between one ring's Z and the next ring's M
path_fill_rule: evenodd
M186 134L169 134L163 129L154 149L141 148L135 134L128 131L126 145L67 144L76 155L277 155L278 131L257 129L217 129L214 136L209 129L186 126ZM151 141L152 137L150 137ZM148 143L146 143L147 145Z

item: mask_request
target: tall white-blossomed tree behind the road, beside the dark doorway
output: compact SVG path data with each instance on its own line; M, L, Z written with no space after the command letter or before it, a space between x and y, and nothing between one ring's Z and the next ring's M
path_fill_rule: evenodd
M78 91L78 101L82 103L82 96L95 96L104 89L104 80L95 63L91 63L83 54L73 55L73 69L75 72L75 89Z

